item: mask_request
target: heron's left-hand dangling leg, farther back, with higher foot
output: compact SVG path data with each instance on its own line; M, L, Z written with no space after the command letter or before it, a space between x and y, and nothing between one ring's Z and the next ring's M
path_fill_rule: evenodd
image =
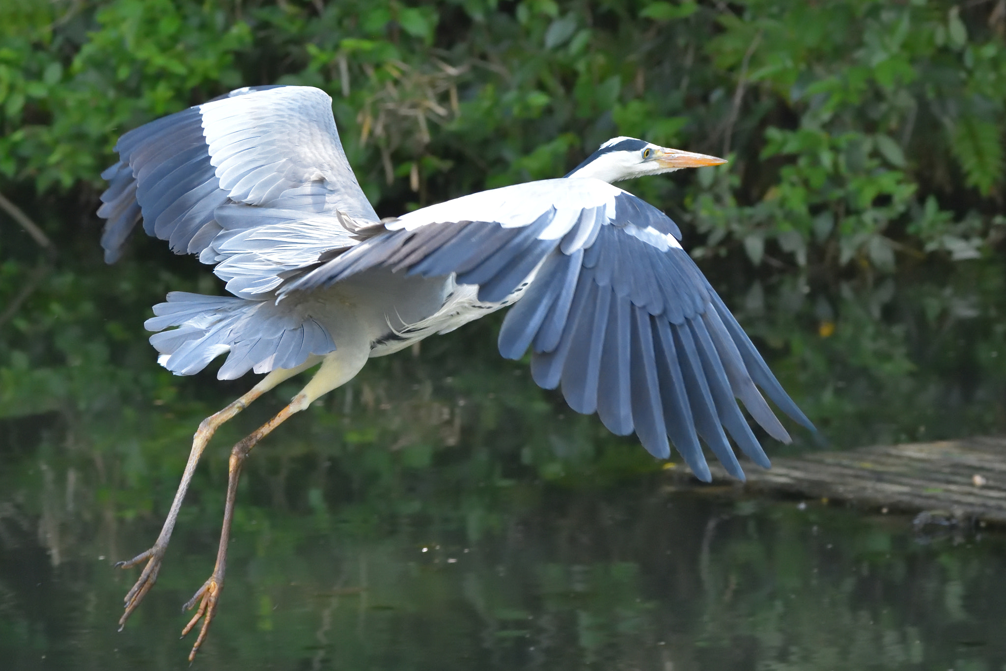
M140 605L140 602L143 601L143 598L147 596L147 593L150 592L150 589L153 588L154 583L157 581L157 574L161 570L161 561L164 558L164 552L168 548L168 542L171 540L171 532L174 531L175 522L178 519L178 511L182 507L182 501L185 499L185 493L188 491L189 485L192 482L192 476L195 474L195 467L199 463L199 458L202 456L202 452L205 450L209 440L213 437L213 434L216 433L216 430L223 423L243 410L256 398L266 393L277 384L317 363L318 360L315 358L314 360L305 362L303 365L294 368L282 368L272 371L260 380L258 384L252 387L247 393L218 412L214 412L209 415L199 424L199 429L192 438L192 450L189 452L188 461L185 463L185 472L182 474L182 480L178 485L177 491L175 492L174 501L171 502L171 509L168 511L168 517L164 520L164 525L161 527L161 533L158 534L157 540L151 548L141 552L132 559L120 561L116 564L117 568L129 568L142 561L147 562L147 565L144 566L143 572L140 573L140 577L133 585L133 589L126 594L126 598L124 600L126 604L126 611L123 613L122 618L119 619L119 631L122 631L123 627L126 626L126 621L133 614L133 611L136 610L136 608Z

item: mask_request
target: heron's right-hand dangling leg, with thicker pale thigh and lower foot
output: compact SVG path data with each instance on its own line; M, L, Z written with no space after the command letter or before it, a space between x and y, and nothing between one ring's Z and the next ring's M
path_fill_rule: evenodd
M227 565L227 543L230 540L230 525L234 515L234 498L237 495L237 481L240 478L244 460L247 459L252 449L255 448L259 441L273 433L274 429L286 422L290 416L307 408L316 398L352 379L366 362L366 354L363 354L362 357L358 355L352 356L352 353L344 350L339 350L337 353L343 356L337 358L335 356L336 353L327 356L315 376L311 378L311 381L307 383L300 393L294 396L289 405L238 442L230 450L230 461L227 469L227 495L224 500L220 544L216 549L216 564L213 566L213 572L210 574L209 579L202 583L202 586L196 591L192 599L183 607L183 610L190 611L195 608L196 603L199 604L195 615L192 616L192 619L182 630L182 636L191 632L199 620L202 620L199 636L196 637L195 644L192 646L192 652L189 653L189 662L195 659L196 653L199 652L203 641L206 640L209 623L212 622L213 616L216 615L220 592L223 590L223 575ZM369 346L366 349L366 353L369 353ZM350 356L345 356L346 354ZM346 360L347 358L349 359L348 361Z

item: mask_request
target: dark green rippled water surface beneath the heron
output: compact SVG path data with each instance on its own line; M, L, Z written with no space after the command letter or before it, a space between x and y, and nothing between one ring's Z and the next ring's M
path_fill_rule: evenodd
M720 286L840 449L1006 430L1003 279ZM297 385L220 432L117 633L136 570L111 564L153 541L192 431L248 382L163 375L80 320L64 363L3 371L0 668L185 668L229 445ZM257 449L196 667L1006 670L1001 531L694 485L534 387L495 328L373 361ZM770 455L813 449L795 438Z

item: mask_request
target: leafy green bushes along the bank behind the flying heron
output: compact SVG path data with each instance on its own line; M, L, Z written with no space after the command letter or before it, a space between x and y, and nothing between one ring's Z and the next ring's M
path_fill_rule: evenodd
M388 213L557 176L626 134L730 154L716 179L640 186L702 234L700 257L737 247L756 265L770 255L890 270L897 250L961 259L954 248L982 254L998 239L1006 23L994 4L0 8L8 188L101 188L123 131L279 81L333 94L364 189ZM936 227L913 225L927 202L945 213ZM968 238L955 233L962 221Z

